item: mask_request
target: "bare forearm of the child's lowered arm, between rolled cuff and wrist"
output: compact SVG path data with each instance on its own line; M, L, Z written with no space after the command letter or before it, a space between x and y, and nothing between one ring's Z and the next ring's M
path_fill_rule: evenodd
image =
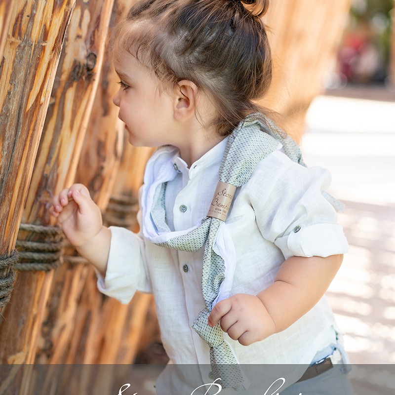
M276 333L292 325L316 305L342 260L343 255L291 257L280 266L275 282L257 295L272 317Z

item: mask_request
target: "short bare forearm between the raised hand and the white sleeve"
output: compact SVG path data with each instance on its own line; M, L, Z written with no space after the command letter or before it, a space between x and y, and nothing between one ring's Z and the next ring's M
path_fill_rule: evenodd
M110 253L111 231L102 226L100 232L84 244L76 246L79 254L89 261L104 277Z

